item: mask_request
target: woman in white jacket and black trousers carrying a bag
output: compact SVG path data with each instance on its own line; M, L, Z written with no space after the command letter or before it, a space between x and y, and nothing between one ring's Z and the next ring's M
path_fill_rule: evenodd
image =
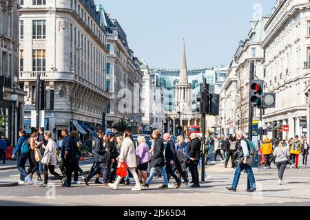
M44 132L44 139L48 141L48 144L46 146L42 145L42 147L45 149L44 155L47 153L50 153L50 164L43 165L44 170L44 183L41 184L41 187L48 186L48 170L50 170L50 173L56 177L56 179L61 180L61 176L56 173L55 166L57 164L57 157L56 157L56 142L52 140L52 133L50 131Z

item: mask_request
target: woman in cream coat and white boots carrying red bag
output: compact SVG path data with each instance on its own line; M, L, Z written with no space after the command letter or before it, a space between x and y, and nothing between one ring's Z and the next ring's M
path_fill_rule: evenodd
M132 190L141 190L139 177L136 173L136 149L134 148L134 142L132 141L132 132L128 130L126 130L123 135L121 153L118 156L118 167L121 166L121 163L124 161L126 163L127 169L130 170L130 173L132 173L134 181L136 182L136 186L134 186ZM122 177L118 176L115 183L109 184L109 186L116 190L121 179Z

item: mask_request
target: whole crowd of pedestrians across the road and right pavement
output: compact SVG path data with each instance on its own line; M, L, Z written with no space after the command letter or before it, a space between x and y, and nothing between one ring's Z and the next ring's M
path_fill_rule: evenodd
M52 140L50 131L43 131L43 129L38 131L32 128L30 136L24 130L19 131L19 140L12 153L13 158L17 157L19 184L26 182L34 184L35 173L37 173L38 181L43 181L40 172L40 166L42 166L44 181L41 187L48 186L48 173L61 181L63 187L82 184L79 181L79 173L87 186L90 186L90 180L96 177L95 184L102 184L103 187L115 190L120 184L130 184L130 174L135 181L132 190L149 188L154 177L158 176L163 180L159 187L162 189L169 188L171 177L176 181L176 188L182 184L200 187L198 164L201 158L202 143L196 133L191 133L185 138L178 136L174 142L169 133L161 135L159 130L154 130L150 135L152 146L148 146L144 135L138 135L136 146L131 131L126 130L120 133L117 126L114 126L113 131L114 133L109 135L100 129L96 132L93 149L94 164L87 176L79 166L82 144L78 141L77 131L69 133L68 129L63 129L61 137L56 142ZM227 187L227 190L236 191L240 174L244 172L247 174L247 192L254 192L256 181L251 168L253 161L250 151L251 142L243 136L242 131L237 131L235 136L231 135L223 139L211 137L207 142L214 147L214 162L219 155L222 162L225 162L225 168L231 159L231 168L236 169L231 187ZM3 143L0 140L0 146L1 144ZM260 146L260 151L266 170L271 168L271 164L276 164L278 184L282 185L285 168L289 164L291 168L298 169L300 154L302 154L302 163L307 165L309 144L305 139L300 140L298 135L291 140L269 140L266 137ZM61 174L55 172L58 159L60 159ZM30 167L26 171L27 160ZM123 177L116 175L116 170L124 163L127 175ZM191 174L191 182L189 182L188 173Z

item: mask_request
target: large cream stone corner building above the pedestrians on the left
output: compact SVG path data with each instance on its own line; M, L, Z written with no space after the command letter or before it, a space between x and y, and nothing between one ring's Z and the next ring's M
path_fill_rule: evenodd
M107 34L93 0L24 0L19 76L24 83L25 122L33 120L35 81L45 80L45 129L76 129L83 139L102 124L110 94L105 84ZM26 128L29 131L29 126Z

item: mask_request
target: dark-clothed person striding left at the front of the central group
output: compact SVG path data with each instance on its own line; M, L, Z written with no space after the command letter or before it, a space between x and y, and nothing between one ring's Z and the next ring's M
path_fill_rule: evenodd
M97 136L95 139L95 146L94 146L94 162L96 163L96 168L90 173L85 179L85 184L87 186L88 182L92 177L97 175L98 173L103 173L103 182L107 185L107 174L108 174L108 168L107 168L107 158L106 154L107 152L105 151L105 147L103 146L103 141L102 141L102 135L103 131L99 130L97 131Z

